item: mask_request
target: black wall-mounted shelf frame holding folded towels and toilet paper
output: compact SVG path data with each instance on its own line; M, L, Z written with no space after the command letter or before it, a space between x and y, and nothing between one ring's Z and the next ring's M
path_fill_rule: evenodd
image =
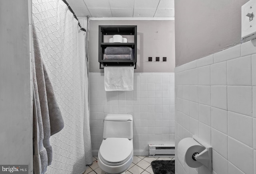
M108 43L104 41L105 35L132 35L133 42L129 43ZM134 49L132 60L104 60L104 49L106 47L131 47ZM104 66L133 66L136 69L137 63L137 26L136 25L99 25L99 63L100 69Z

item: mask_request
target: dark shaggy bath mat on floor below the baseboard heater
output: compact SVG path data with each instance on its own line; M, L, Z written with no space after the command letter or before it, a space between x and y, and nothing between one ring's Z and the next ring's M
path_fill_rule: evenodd
M154 174L175 174L175 160L156 160L151 166Z

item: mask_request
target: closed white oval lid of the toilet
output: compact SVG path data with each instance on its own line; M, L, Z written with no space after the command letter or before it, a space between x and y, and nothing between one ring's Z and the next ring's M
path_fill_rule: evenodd
M132 143L127 138L107 138L100 145L100 156L106 162L119 163L132 154Z

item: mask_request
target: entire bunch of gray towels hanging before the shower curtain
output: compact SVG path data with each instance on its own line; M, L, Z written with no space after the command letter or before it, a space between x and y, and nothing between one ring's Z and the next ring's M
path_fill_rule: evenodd
M52 163L52 146L50 136L64 127L64 121L54 97L52 84L41 58L38 37L34 23L33 37L33 84L34 84L34 116L33 116L33 147L34 173L44 174L47 166Z

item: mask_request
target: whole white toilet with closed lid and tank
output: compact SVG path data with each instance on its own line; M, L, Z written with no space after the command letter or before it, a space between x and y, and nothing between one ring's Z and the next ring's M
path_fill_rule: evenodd
M107 174L124 174L132 164L132 122L130 114L108 114L104 118L98 164Z

